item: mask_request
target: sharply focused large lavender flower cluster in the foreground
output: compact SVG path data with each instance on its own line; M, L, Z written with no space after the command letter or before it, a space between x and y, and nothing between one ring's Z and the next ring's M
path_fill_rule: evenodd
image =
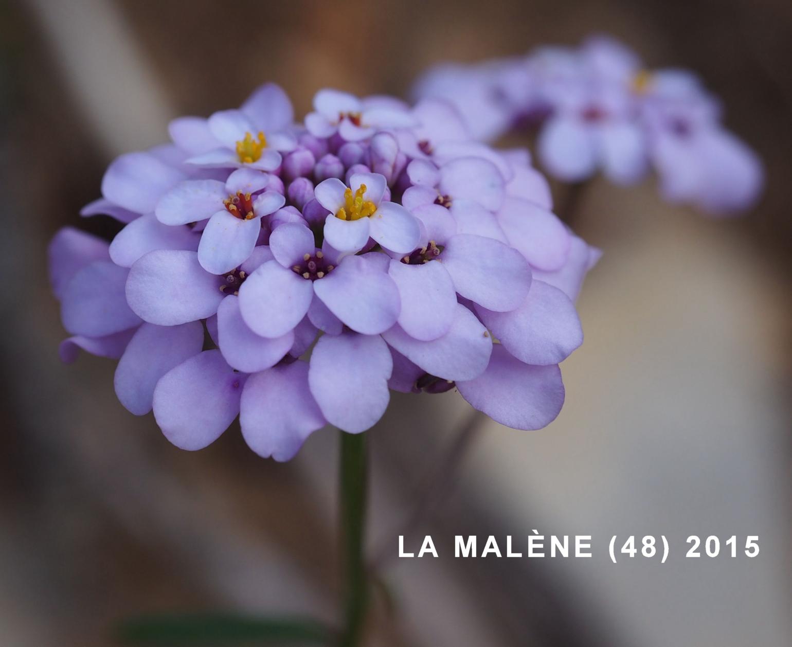
M123 229L50 246L63 360L119 359L120 402L189 450L239 416L253 451L287 460L325 424L371 428L389 389L554 420L599 253L527 151L470 139L444 101L324 89L314 108L295 124L265 85L112 162L82 215Z

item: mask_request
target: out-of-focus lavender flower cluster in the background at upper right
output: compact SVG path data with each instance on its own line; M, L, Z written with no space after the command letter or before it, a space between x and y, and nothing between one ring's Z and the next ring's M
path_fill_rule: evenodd
M653 169L665 200L714 215L750 207L763 188L760 159L723 127L721 106L695 74L646 70L605 36L580 48L434 67L413 92L447 98L482 141L538 129L539 160L561 181L601 171L630 185Z

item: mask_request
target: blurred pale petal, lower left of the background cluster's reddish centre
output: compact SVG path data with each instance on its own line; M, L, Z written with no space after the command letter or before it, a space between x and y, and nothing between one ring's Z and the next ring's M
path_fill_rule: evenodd
M539 133L539 158L550 175L567 182L590 177L596 169L591 128L580 121L558 117Z

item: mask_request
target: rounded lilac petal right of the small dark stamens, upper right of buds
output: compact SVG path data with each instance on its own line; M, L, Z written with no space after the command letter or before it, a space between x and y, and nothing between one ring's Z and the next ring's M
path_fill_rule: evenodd
M440 193L475 200L489 211L503 204L504 180L497 166L483 158L459 158L440 167Z

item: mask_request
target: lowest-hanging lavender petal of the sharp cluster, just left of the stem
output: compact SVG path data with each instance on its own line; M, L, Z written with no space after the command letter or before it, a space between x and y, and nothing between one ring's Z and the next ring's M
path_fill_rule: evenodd
M250 449L276 461L294 457L325 426L308 388L308 364L294 362L251 375L242 390L239 422Z

